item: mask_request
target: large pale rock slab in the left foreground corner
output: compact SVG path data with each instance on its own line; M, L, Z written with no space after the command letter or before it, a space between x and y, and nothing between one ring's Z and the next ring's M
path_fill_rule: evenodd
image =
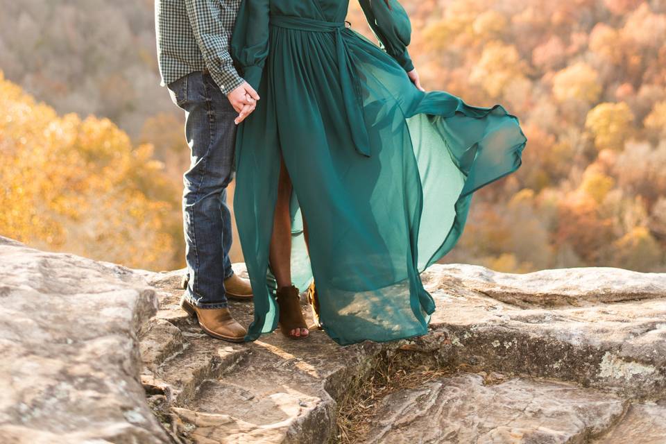
M171 442L138 379L146 282L0 238L0 300L0 443Z

